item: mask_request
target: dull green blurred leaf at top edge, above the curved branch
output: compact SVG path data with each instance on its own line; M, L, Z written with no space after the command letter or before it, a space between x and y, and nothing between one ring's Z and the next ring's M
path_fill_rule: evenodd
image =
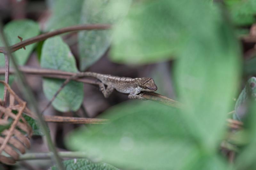
M57 0L53 2L52 15L46 22L45 31L78 25L84 0Z

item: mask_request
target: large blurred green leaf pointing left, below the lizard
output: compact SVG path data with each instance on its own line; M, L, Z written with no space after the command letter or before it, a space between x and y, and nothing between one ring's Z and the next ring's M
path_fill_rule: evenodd
M105 114L111 123L74 131L67 146L123 169L182 169L199 154L179 110L172 107L132 102Z

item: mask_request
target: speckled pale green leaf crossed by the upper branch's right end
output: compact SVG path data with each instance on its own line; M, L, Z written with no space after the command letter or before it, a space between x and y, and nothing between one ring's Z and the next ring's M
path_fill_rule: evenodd
M81 15L81 24L115 24L127 13L131 0L85 0ZM80 31L78 47L80 69L85 70L106 52L111 41L111 30Z

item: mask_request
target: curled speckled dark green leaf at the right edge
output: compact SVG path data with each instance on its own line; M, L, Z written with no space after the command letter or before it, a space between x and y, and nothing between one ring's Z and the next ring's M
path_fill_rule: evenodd
M236 104L233 119L242 121L246 114L246 105L248 100L256 100L256 78L251 77L247 80L242 92L239 94Z

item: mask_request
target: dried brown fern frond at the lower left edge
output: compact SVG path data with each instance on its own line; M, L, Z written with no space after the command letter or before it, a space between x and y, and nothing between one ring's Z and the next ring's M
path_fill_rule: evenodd
M0 106L0 125L11 123L10 128L0 134L0 162L13 164L19 159L20 153L23 154L26 148L30 148L29 139L32 136L32 128L22 117L22 113L28 110L26 102L21 100L4 81L0 83L4 84L10 94L9 106Z

